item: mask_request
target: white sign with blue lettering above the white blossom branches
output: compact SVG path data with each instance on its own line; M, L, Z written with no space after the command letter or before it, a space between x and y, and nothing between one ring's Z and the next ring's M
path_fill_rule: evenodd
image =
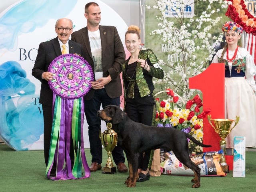
M182 7L180 1L170 1L170 4L166 5L165 17L177 17L180 12L184 18L192 18L194 16L194 0L184 0L185 7Z

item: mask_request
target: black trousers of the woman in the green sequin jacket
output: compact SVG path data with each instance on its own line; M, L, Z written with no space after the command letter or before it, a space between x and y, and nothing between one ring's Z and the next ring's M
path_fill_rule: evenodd
M152 125L154 106L156 102L152 94L145 97L140 97L138 93L134 93L134 99L125 99L125 109L128 117L137 123L142 123L144 125ZM138 168L146 171L148 168L148 163L150 159L150 152L145 151L139 156Z

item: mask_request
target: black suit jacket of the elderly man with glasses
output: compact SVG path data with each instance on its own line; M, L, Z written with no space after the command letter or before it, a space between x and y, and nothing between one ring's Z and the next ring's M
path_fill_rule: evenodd
M68 41L70 54L81 54L82 46L76 42ZM50 63L58 56L62 55L58 38L54 38L48 42L42 42L38 48L36 61L32 69L32 75L41 81L41 91L39 103L52 106L52 90L48 85L48 81L42 79L42 73L48 71Z

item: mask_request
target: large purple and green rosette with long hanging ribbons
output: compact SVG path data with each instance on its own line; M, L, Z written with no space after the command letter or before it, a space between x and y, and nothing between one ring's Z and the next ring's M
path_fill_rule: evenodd
M53 122L46 177L52 180L88 178L83 96L91 87L92 68L79 55L64 54L52 61L48 71L53 73L53 79L48 81L53 91Z

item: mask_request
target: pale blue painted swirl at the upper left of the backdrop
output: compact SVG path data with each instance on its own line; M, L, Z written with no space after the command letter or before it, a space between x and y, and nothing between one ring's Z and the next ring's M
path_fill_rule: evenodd
M0 49L16 50L19 35L43 27L50 19L57 20L66 16L76 2L77 0L24 0L15 5L0 18Z

